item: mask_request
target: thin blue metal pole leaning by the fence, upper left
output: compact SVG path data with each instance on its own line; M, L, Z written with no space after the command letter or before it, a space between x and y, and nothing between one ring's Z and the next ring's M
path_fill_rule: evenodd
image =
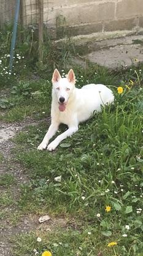
M9 71L12 71L12 64L14 59L14 50L15 50L15 41L17 36L17 25L18 25L18 15L20 10L20 0L17 0L16 8L15 8L15 19L14 19L14 28L12 32L12 43L10 49L10 62L9 62Z

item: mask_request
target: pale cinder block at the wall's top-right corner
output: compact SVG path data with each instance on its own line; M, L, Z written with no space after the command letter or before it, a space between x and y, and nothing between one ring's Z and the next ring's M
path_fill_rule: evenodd
M117 2L117 19L143 14L142 0L122 0Z

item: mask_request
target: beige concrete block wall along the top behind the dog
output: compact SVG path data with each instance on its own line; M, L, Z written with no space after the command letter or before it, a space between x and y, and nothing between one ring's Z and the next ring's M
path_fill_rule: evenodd
M143 0L44 1L44 21L55 37L143 27Z

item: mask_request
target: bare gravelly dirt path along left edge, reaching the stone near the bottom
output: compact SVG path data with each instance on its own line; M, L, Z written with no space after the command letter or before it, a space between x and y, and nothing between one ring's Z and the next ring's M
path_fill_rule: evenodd
M29 177L26 175L25 170L20 166L20 164L14 163L14 165L10 166L10 163L13 162L12 159L14 158L14 154L11 152L11 149L15 147L14 142L10 139L14 138L15 134L23 130L25 126L38 125L40 122L41 120L26 120L21 123L1 123L0 154L3 155L4 160L0 162L0 176L5 174L14 175L16 183L15 185L9 186L8 189L0 186L0 190L1 193L10 191L15 202L17 202L18 196L20 195L20 184L27 183L29 181ZM3 207L2 210L6 210L6 212L10 212L12 214L14 213L16 216L19 214L17 204ZM39 229L55 229L57 226L66 228L67 225L64 218L52 219L48 221L48 223L42 224L39 223L38 219L39 216L37 215L21 214L17 223L12 224L9 217L4 215L0 224L0 256L15 256L11 252L14 244L10 242L10 237L15 236L16 234L25 234L29 231L38 231Z

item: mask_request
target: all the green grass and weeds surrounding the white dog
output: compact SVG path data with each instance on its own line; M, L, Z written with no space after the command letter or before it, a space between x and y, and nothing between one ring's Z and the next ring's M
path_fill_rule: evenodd
M29 47L30 41L27 43ZM21 56L29 51L27 46L25 51L19 47ZM33 231L10 238L14 245L12 254L34 255L36 249L39 255L50 250L53 256L141 256L143 66L115 72L88 62L86 69L74 66L77 87L104 83L114 91L115 103L80 124L79 131L64 141L64 147L61 143L55 152L39 152L37 146L49 125L45 117L50 115L53 67L59 65L64 69L60 72L67 73L71 62L68 60L66 65L70 56L67 46L63 46L62 51L61 48L52 51L50 46L48 72L45 72L46 60L43 69L38 70L37 60L33 59L35 48L36 44L30 52L33 63L28 59L19 63L23 68L17 76L20 82L18 78L12 80L9 94L4 97L6 101L0 101L0 119L4 122L43 119L38 125L26 126L14 138L9 165L10 161L12 166L20 163L29 181L21 182L15 198L10 190L16 186L14 176L1 177L1 217L4 219L6 214L14 226L20 217L32 214L38 220L48 213L52 220L63 218L66 226L45 223L36 229L31 223ZM27 67L24 68L24 64ZM31 69L34 75L40 74L38 79L30 79ZM122 94L117 93L117 86L123 87ZM59 133L65 128L62 125ZM1 164L3 159L0 155ZM55 181L57 176L61 176L61 182ZM106 206L111 207L109 212ZM9 207L17 212L9 215ZM37 242L37 237L42 241ZM114 241L117 246L107 247Z

